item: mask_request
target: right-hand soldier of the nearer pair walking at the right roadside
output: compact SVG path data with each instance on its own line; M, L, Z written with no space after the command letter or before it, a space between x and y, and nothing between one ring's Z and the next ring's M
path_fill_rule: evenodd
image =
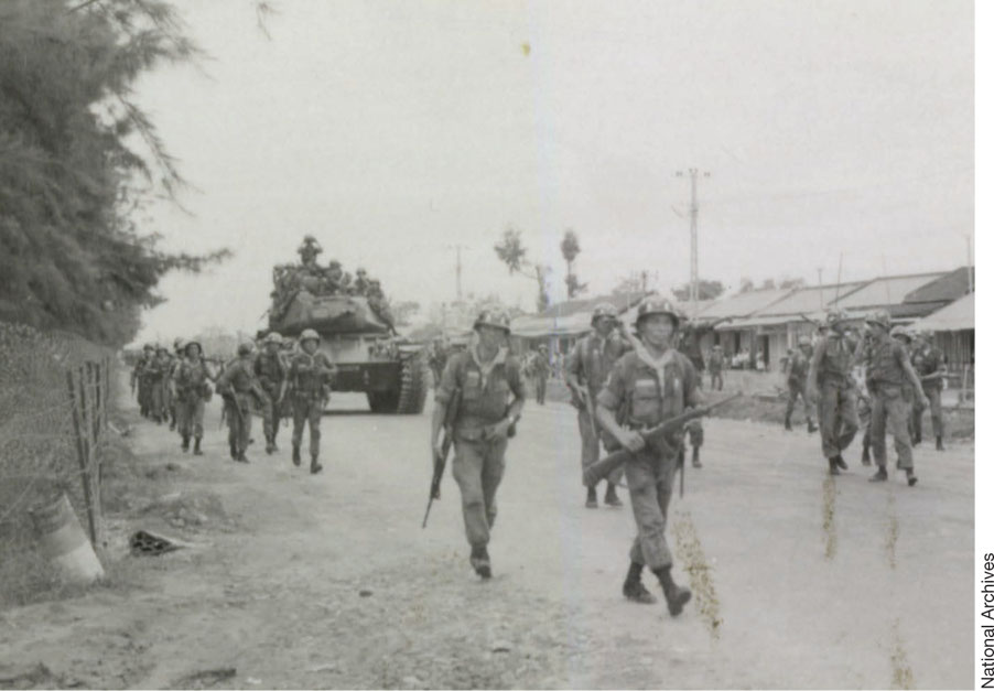
M904 386L910 382L919 401L925 400L921 382L911 367L905 347L890 337L890 315L882 310L866 320L872 344L866 366L866 388L873 400L871 413L871 444L877 464L876 475L869 482L887 479L887 422L897 449L897 467L905 471L908 485L915 486L915 461L911 457L911 439L908 434L908 406Z

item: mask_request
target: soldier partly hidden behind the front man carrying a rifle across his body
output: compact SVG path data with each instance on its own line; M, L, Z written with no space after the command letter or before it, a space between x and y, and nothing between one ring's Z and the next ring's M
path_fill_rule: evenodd
M604 386L612 365L627 349L625 341L615 331L617 318L618 312L613 304L603 303L594 307L594 313L591 315L593 332L573 346L566 359L566 386L572 391L570 402L576 409L576 419L580 424L581 471L596 463L601 456L598 425L591 413L596 414L597 393ZM615 471L607 478L604 503L608 506L624 506L616 489L620 478L622 468ZM597 508L596 487L586 488L586 508Z

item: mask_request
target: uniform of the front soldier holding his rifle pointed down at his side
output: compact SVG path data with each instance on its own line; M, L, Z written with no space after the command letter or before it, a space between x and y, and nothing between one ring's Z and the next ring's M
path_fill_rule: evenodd
M449 358L435 401L443 408L462 391L455 417L452 475L460 486L466 540L477 552L490 541L497 519L497 487L504 477L507 438L487 439L487 428L508 415L512 402L523 404L525 389L517 358L506 349L480 363L476 347Z

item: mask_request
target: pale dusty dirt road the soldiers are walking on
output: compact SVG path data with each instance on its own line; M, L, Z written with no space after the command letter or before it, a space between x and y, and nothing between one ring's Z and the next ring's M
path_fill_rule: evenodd
M916 450L912 489L868 484L855 455L826 479L817 435L705 421L704 468L688 468L670 529L696 597L673 619L622 597L630 510L583 507L566 406L526 408L488 583L469 569L451 476L421 529L428 411L327 415L311 477L290 464L289 430L275 456L257 442L250 465L227 460L213 406L199 458L139 423L138 463L165 498L118 523L122 584L0 614L0 650L43 662L37 683L972 685L972 445ZM141 527L196 546L121 557Z

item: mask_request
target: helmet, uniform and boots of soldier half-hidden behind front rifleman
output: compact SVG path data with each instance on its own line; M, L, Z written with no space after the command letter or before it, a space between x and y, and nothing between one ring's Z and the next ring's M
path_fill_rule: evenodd
M596 322L602 316L614 316L614 307L604 305L594 311L591 320ZM617 333L612 332L607 337L601 336L596 331L584 336L573 346L566 358L565 374L573 379L590 396L591 408L596 414L597 395L601 392L604 381L607 379L611 367L615 360L620 357L627 345L624 338ZM596 421L591 419L587 407L583 403L576 391L573 391L572 406L576 408L576 421L580 427L581 455L580 465L581 474L584 468L593 465L601 457L601 439L597 434ZM614 472L608 476L608 490L613 492L613 487L618 484L622 478L622 471ZM584 481L584 485L586 485ZM587 487L587 506L595 508L597 505L596 495L593 494L594 487Z

